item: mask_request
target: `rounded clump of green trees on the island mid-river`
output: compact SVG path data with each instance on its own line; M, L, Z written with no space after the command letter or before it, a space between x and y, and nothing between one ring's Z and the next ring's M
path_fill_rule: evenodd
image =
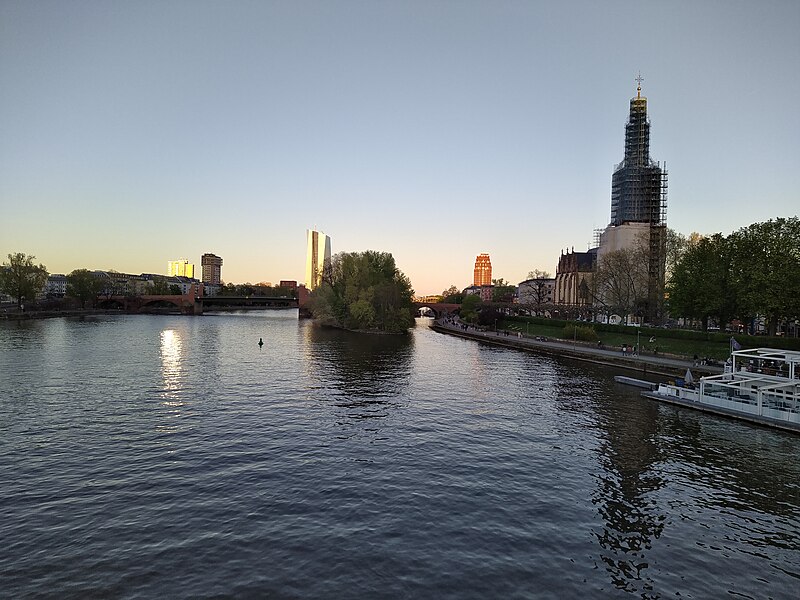
M411 282L387 252L341 252L309 299L319 322L352 330L387 333L414 324Z

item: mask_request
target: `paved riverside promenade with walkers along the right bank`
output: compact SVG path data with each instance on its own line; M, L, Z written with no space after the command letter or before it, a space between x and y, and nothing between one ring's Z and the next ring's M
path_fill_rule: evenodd
M596 364L619 367L628 371L637 371L640 375L661 375L663 377L683 377L687 369L691 369L694 377L703 375L718 375L724 368L716 365L697 365L693 361L672 355L636 355L630 353L623 356L620 348L598 347L586 342L570 342L566 340L553 340L550 338L520 337L517 334L504 331L481 331L474 327L463 329L463 324L449 322L445 319L437 320L431 326L434 331L463 338L474 339L496 346L505 346L526 351L541 352L556 356L565 356Z

